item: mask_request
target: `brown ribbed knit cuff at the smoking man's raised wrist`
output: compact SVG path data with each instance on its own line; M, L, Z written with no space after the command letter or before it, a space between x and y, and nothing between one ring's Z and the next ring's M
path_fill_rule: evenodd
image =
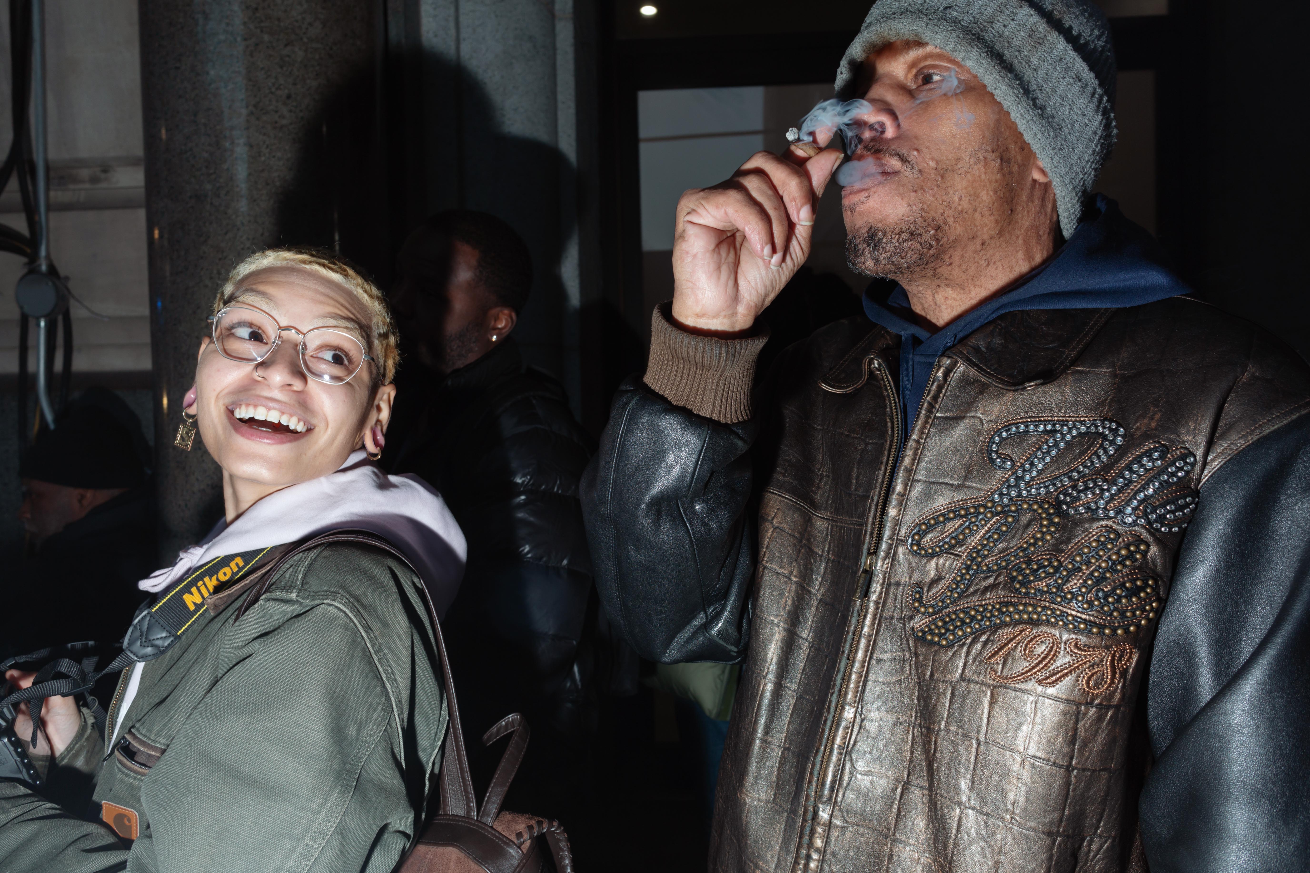
M651 317L651 356L646 385L697 415L736 424L751 418L755 363L769 340L764 329L745 339L719 339L679 330L663 302Z

